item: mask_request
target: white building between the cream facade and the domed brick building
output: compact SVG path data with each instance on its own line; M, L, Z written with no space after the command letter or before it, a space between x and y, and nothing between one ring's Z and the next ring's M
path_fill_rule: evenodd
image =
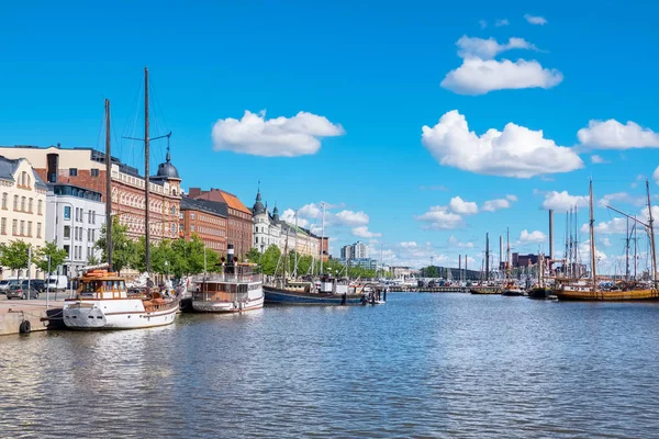
M68 254L60 273L77 275L90 257L102 257L102 250L94 248L105 223L101 193L72 184L49 184L46 216L46 240Z

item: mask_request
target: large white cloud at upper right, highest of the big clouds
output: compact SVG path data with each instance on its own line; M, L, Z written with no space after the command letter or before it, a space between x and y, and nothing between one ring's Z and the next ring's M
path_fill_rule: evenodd
M538 61L517 59L466 58L449 71L442 87L458 94L485 94L494 90L550 89L563 79L557 69L544 68Z

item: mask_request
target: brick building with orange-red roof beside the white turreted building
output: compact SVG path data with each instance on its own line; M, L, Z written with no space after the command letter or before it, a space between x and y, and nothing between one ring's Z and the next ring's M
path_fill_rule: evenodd
M234 245L237 257L243 257L249 251L253 240L252 211L245 207L236 195L213 188L210 191L202 191L200 188L190 188L188 195L196 200L225 203L228 212L226 241Z

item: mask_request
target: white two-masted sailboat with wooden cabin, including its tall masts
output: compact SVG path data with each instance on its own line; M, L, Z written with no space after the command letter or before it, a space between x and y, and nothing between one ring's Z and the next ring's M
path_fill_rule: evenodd
M148 206L148 70L145 75L145 206ZM107 264L90 268L78 281L72 299L63 306L64 323L71 329L137 329L171 325L179 311L178 295L146 289L129 292L126 280L112 271L112 159L110 101L105 100L105 255ZM149 261L149 222L146 209L146 267Z

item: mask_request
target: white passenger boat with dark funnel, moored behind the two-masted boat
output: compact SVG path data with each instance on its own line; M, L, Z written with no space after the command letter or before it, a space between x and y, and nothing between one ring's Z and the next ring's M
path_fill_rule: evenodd
M200 313L242 313L264 307L264 288L254 264L234 263L233 246L227 249L228 263L221 273L192 279L192 309Z

